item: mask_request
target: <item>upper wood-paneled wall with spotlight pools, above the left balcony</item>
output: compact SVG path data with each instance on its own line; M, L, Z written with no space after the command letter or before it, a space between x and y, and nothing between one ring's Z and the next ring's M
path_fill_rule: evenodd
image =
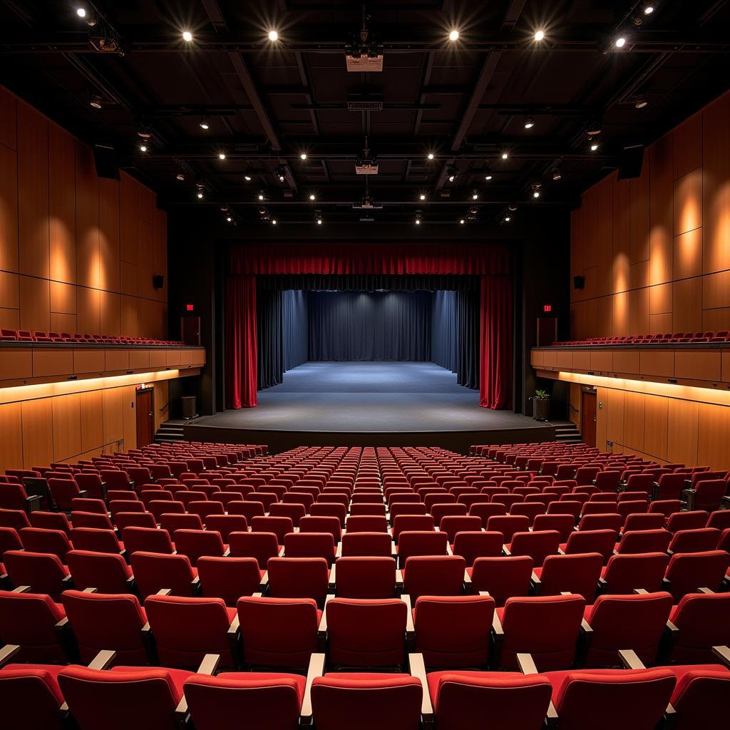
M90 147L2 87L0 327L167 337L155 194L96 177Z

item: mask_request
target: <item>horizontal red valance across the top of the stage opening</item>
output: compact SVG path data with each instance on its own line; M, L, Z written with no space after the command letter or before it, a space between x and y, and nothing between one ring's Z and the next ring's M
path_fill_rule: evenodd
M231 249L232 274L509 274L502 245L266 244Z

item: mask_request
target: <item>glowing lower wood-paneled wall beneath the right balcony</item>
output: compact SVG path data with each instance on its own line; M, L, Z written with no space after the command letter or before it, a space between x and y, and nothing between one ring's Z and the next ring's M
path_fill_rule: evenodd
M730 408L597 388L596 446L659 462L730 469Z

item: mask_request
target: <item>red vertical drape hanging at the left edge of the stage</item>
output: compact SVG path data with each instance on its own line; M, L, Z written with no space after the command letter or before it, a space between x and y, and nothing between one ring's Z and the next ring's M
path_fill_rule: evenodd
M258 404L256 277L228 277L226 301L226 407L251 408Z

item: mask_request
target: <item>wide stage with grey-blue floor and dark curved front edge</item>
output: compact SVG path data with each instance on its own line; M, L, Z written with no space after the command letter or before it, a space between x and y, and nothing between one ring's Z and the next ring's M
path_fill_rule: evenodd
M309 362L259 391L258 407L188 423L185 439L299 445L443 446L550 441L555 427L479 407L479 391L429 362Z

